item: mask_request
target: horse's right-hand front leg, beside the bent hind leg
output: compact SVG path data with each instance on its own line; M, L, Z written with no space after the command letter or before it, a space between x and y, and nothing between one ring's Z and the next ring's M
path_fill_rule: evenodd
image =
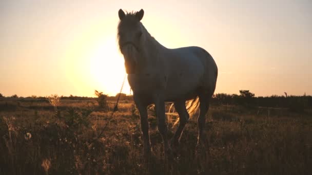
M158 130L162 135L164 141L165 148L165 156L172 155L172 151L168 141L168 127L166 125L166 117L165 117L165 99L163 96L157 96L154 99L155 102L155 110L158 117Z

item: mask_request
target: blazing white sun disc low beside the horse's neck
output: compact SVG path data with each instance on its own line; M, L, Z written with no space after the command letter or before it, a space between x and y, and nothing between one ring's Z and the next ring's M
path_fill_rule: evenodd
M90 77L96 90L111 96L120 92L126 75L124 58L116 43L115 37L107 37L90 52ZM123 93L129 94L130 87L125 81Z

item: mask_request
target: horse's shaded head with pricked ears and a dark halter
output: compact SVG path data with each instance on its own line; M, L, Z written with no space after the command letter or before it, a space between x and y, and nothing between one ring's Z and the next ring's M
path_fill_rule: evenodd
M127 74L135 73L138 66L140 46L144 33L140 20L144 11L127 13L120 9L118 12L120 23L118 25L118 43L121 53L124 55Z

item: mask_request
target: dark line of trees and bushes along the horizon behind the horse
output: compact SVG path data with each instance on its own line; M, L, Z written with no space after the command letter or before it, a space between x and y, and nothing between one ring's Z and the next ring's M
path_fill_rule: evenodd
M294 112L303 112L305 109L312 109L312 96L302 95L302 96L288 96L285 93L285 96L271 95L266 97L256 97L254 93L251 93L249 90L240 90L240 94L226 94L218 93L214 94L211 99L211 104L213 105L243 105L247 107L252 106L262 106L262 107L283 107L288 108L290 111ZM95 91L96 97L80 97L70 95L68 97L61 96L62 99L69 100L97 100L99 104L104 104L106 101L114 101L118 98L119 93L115 96L108 96L103 92ZM6 98L0 93L0 98ZM21 98L21 99L37 99L37 100L47 100L47 97L18 97L13 95L10 98ZM124 93L120 94L120 100L132 100L132 95L127 95Z

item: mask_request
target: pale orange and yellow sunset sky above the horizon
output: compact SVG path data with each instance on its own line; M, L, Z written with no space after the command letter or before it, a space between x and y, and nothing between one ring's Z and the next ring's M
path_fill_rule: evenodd
M219 69L215 93L312 95L309 0L0 1L0 93L119 93L119 9L144 9L143 25L167 48L207 50Z

